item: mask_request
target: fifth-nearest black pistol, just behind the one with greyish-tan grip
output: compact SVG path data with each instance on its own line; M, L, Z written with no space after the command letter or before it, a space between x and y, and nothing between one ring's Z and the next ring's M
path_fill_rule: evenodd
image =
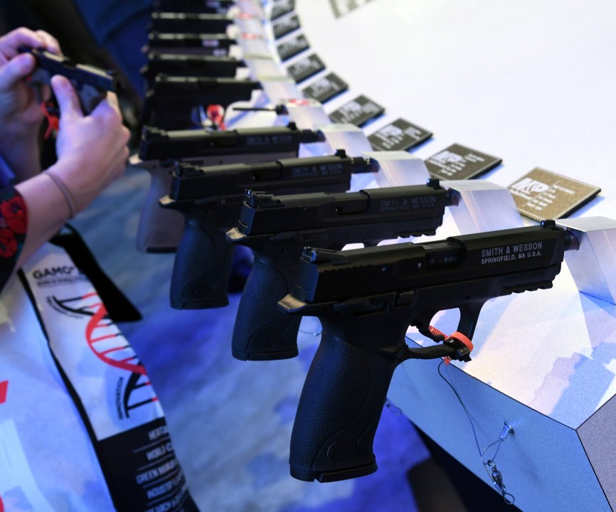
M145 95L143 122L163 129L186 129L196 124L191 117L200 105L228 107L250 100L253 90L260 88L255 80L158 75Z

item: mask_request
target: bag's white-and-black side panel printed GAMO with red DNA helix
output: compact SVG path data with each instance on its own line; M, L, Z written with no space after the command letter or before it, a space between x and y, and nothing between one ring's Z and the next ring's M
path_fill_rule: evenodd
M147 372L85 274L46 244L23 280L117 511L197 511Z

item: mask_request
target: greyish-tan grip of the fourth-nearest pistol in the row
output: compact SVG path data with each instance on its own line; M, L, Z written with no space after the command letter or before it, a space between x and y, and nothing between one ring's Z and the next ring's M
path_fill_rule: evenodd
M140 252L175 252L184 233L184 216L176 210L161 208L160 198L171 189L171 168L156 166L149 191L139 215L137 250Z

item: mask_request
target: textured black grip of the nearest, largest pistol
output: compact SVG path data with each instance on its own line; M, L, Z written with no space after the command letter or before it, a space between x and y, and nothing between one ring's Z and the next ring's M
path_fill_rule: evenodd
M322 324L291 435L291 476L304 481L376 471L374 434L397 364L391 354L347 343Z

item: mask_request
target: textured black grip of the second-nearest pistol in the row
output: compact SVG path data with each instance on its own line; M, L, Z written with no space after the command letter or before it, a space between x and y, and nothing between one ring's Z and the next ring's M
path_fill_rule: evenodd
M297 356L300 316L282 313L277 302L288 293L281 270L260 258L246 281L233 328L233 357L270 361Z

